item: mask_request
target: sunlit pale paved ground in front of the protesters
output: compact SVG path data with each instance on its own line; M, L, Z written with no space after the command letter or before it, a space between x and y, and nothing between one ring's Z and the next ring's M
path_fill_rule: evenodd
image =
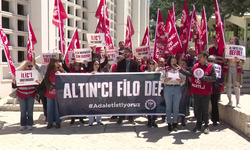
M193 133L192 117L185 128L178 132L167 131L165 123L158 119L159 128L145 126L147 119L139 117L132 125L125 122L117 125L116 120L103 118L106 125L88 127L78 121L73 126L64 120L60 129L46 129L41 112L34 112L33 130L19 131L19 112L0 111L0 150L78 150L78 149L121 149L121 150L249 150L250 139L221 122L210 126L210 134ZM88 119L85 119L86 121Z

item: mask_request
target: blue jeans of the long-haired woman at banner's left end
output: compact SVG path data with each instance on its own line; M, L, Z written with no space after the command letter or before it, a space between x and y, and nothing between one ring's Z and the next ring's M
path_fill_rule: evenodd
M56 99L47 98L47 121L48 123L61 122Z

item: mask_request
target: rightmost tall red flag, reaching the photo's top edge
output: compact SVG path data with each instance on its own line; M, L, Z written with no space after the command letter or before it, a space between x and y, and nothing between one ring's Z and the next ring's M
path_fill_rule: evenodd
M218 1L215 0L215 19L216 19L216 41L218 44L218 54L223 56L225 48L224 25L221 21Z

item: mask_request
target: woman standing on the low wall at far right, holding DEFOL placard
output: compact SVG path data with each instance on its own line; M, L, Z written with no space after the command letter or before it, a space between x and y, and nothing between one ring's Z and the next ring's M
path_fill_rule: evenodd
M229 40L230 45L239 45L239 39L237 37L232 37ZM242 79L242 66L245 61L235 57L234 59L223 59L223 73L224 73L224 85L226 85L226 92L228 97L229 106L233 105L231 94L232 86L234 87L235 97L236 97L236 107L240 108L240 87L243 84Z

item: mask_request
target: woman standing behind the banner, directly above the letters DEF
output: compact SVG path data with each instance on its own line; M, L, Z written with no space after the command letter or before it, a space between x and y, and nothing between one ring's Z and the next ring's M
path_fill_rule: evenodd
M150 60L149 63L148 63L148 70L146 70L145 72L155 72L156 71L156 68L158 67L158 64L155 60ZM148 115L147 116L148 118L148 127L155 127L157 128L158 125L156 124L155 120L157 119L157 116L156 115Z

